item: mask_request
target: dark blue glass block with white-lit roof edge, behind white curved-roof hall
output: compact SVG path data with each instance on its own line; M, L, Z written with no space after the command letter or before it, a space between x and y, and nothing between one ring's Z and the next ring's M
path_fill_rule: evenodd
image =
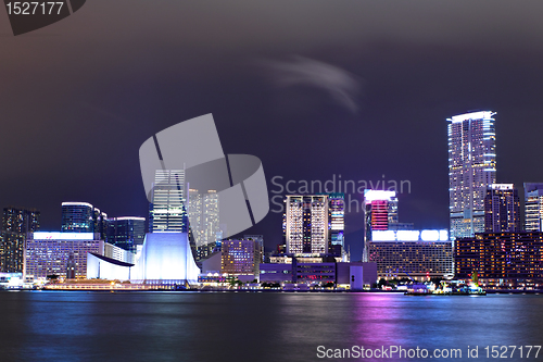
M111 245L136 252L146 238L146 217L123 216L108 219L106 238Z

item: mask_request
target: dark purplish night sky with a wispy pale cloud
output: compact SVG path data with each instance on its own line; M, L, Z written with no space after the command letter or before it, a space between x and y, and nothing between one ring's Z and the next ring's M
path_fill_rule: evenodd
M543 182L541 1L91 0L17 37L0 8L0 207L43 230L63 201L147 217L139 147L207 113L270 196L274 176L409 180L417 228L449 226L452 115L497 112L497 180ZM362 227L351 212L353 260ZM281 214L247 233L275 248Z

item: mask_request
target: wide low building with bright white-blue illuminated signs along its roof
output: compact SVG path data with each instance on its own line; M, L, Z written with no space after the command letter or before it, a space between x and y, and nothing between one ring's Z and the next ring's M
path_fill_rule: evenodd
M379 278L453 277L453 242L447 230L375 230L369 260Z

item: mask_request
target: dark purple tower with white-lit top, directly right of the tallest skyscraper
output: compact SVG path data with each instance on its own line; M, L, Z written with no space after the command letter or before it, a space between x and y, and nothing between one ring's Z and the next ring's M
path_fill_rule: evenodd
M484 232L520 232L520 200L513 184L493 184L484 198Z

